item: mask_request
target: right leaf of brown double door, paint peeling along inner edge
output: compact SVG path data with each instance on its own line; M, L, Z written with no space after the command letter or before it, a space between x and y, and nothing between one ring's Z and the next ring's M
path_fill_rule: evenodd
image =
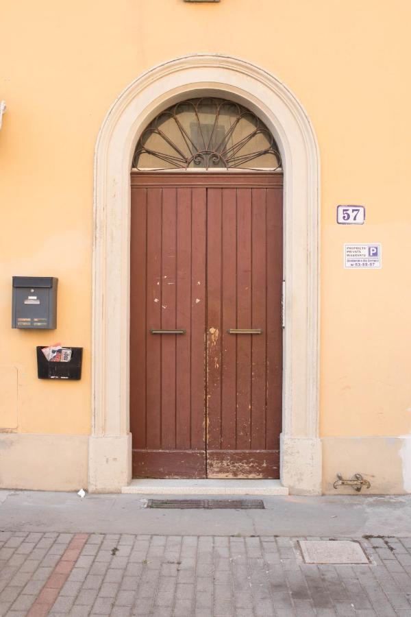
M209 189L208 195L207 474L275 478L282 401L281 191ZM229 328L262 334L232 335Z

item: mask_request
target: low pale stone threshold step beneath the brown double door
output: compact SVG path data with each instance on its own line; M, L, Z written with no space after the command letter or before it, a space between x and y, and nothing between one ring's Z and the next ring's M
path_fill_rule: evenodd
M279 480L132 480L122 493L145 495L288 495Z

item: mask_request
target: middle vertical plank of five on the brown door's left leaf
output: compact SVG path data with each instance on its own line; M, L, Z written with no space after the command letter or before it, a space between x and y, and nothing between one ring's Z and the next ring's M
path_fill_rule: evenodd
M162 192L162 280L161 327L176 328L177 267L176 189ZM161 339L161 443L164 450L175 448L175 348L177 335L158 335Z

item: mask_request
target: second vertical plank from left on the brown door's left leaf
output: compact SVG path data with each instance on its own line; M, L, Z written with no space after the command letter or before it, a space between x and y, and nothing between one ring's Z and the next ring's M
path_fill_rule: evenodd
M150 334L161 328L162 189L147 189L147 448L161 447L161 341Z

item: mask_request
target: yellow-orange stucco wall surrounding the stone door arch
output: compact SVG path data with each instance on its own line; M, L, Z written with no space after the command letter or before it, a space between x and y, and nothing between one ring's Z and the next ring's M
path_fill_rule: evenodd
M74 0L1 7L0 426L90 432L93 153L117 95L186 53L227 53L282 80L321 156L321 435L411 432L411 3ZM337 204L365 226L337 226ZM382 243L380 271L343 243ZM10 328L12 275L57 276L58 329ZM84 347L79 383L36 377L35 346ZM18 378L10 367L17 367Z

